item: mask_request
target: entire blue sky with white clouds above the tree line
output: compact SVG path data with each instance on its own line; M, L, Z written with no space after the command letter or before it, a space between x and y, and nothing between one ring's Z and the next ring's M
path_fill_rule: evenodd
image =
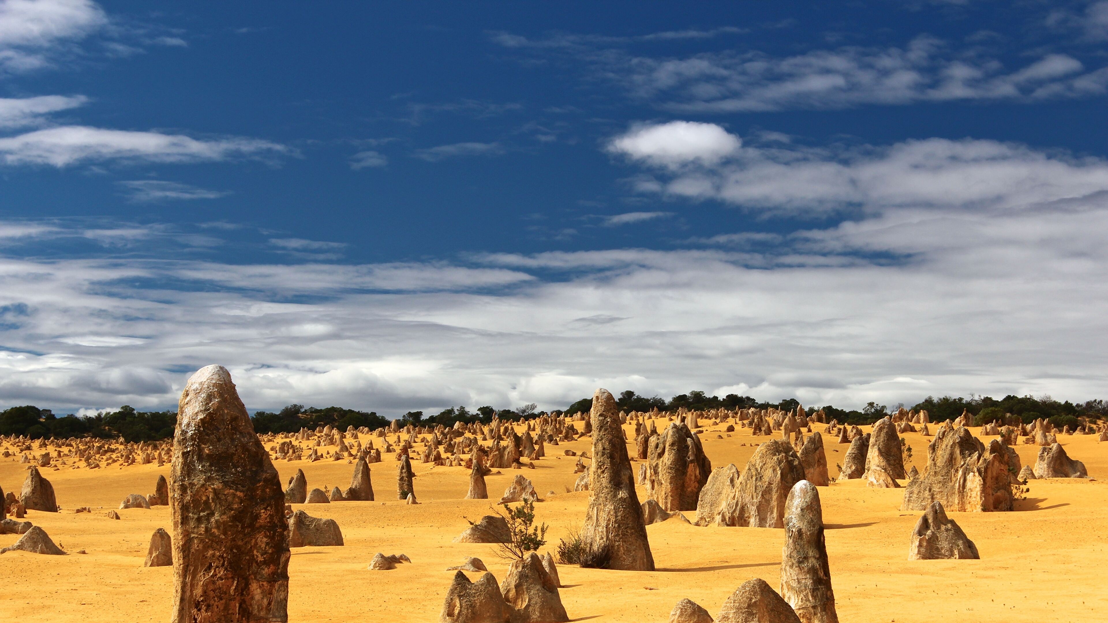
M1108 395L1108 1L326 9L0 0L0 405Z

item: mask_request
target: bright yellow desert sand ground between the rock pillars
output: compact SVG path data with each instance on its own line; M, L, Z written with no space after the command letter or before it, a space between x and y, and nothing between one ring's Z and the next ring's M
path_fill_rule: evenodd
M659 421L660 425L665 421ZM817 430L823 427L817 425ZM720 427L701 436L712 466L736 463L743 469L752 443L769 438L739 429L717 439ZM935 425L932 425L935 429ZM628 427L628 430L630 428ZM975 432L979 429L974 429ZM923 470L931 438L904 435ZM377 438L373 438L375 440ZM1108 443L1096 436L1060 436L1070 457L1085 462L1094 478L1108 478ZM824 436L832 477L847 445ZM379 445L379 443L378 443ZM536 469L501 470L488 477L490 496L523 473L545 501L536 513L550 524L550 549L571 524L579 524L588 493L566 493L576 474L575 458L565 449L591 448L591 441L546 446ZM1024 464L1033 464L1035 446L1017 446ZM494 545L452 543L468 524L489 513L486 500L462 500L469 472L416 462L419 505L394 500L396 461L373 463L377 502L305 504L309 514L334 518L346 539L342 548L299 548L289 563L289 621L438 621L453 572L464 556L481 558L502 579L505 561ZM330 490L349 486L352 466L346 461L276 461L281 481L305 471L308 487ZM634 466L637 470L637 463ZM18 494L27 466L0 460L0 484ZM151 533L171 529L168 507L119 511L122 520L104 517L129 493L148 494L168 466L106 469L43 469L54 486L61 513L29 511L69 552L49 556L9 552L0 556L0 620L4 621L157 621L170 620L173 594L171 568L144 569ZM326 486L326 487L325 487ZM553 490L556 494L547 496ZM639 499L645 500L642 488ZM839 617L855 622L1104 621L1108 590L1108 487L1099 481L1032 481L1017 512L950 513L977 544L982 560L909 561L909 535L919 512L900 511L903 489L868 489L861 481L820 488L827 547ZM383 501L382 501L383 500ZM90 505L94 511L75 514ZM102 507L102 508L100 508ZM695 519L694 512L686 513ZM172 530L171 530L172 532ZM624 572L561 565L567 586L562 601L573 620L664 622L674 604L688 598L714 616L742 582L762 578L779 585L783 530L696 528L670 520L647 528L658 571ZM0 547L18 539L0 535ZM369 571L376 552L408 554L412 564L394 571ZM475 575L471 574L475 579Z

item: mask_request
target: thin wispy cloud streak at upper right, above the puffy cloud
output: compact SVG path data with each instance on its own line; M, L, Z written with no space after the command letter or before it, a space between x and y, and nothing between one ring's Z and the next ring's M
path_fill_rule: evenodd
M1086 20L1092 23L1095 20ZM920 35L903 47L850 45L773 55L757 50L687 57L632 53L620 38L497 35L506 48L567 54L593 79L633 98L685 113L848 109L916 102L1036 102L1108 93L1108 67L1057 52L1008 67L975 48Z

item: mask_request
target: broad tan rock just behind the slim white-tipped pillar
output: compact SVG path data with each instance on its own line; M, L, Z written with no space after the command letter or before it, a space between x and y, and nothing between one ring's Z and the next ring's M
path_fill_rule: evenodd
M804 479L792 446L783 439L758 447L716 513L718 525L783 528L784 502L792 486Z

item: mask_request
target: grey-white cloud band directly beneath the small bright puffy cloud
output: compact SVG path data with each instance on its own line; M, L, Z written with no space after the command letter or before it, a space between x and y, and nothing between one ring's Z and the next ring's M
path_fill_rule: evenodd
M1108 163L997 141L927 139L890 146L745 146L714 165L658 163L643 192L718 200L772 214L964 206L1002 210L1108 188Z

